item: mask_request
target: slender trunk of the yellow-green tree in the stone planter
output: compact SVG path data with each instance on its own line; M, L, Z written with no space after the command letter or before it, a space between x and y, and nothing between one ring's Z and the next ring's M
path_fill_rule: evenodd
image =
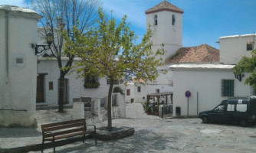
M110 89L108 91L108 98L107 98L107 129L109 132L112 130L112 117L111 117L112 90L113 90L113 78L110 78Z

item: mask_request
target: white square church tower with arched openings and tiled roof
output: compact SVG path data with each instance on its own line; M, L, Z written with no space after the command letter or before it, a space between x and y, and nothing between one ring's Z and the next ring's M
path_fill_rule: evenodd
M146 13L146 24L153 30L153 50L165 44L166 54L163 60L176 53L182 47L182 14L183 10L163 0Z

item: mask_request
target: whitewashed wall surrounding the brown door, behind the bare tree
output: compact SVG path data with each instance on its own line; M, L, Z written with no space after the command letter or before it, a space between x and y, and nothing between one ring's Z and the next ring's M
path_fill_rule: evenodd
M74 60L75 61L75 60ZM63 60L63 65L67 63L67 60ZM38 59L38 73L46 73L44 76L44 103L38 103L48 106L57 106L58 103L58 89L57 89L57 80L60 77L60 70L57 65L56 59L50 59L49 57L39 58ZM107 79L105 77L100 78L100 86L98 88L85 88L84 79L77 78L77 73L70 73L65 76L65 79L68 80L67 86L67 106L72 106L74 98L80 97L93 97L93 98L103 98L108 94L109 86L107 84ZM54 89L49 90L49 82L53 82ZM124 83L120 83L115 86L120 86L125 92Z

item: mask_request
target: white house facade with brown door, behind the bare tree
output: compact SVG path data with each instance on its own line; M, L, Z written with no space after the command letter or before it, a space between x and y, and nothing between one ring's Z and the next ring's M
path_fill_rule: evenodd
M67 63L67 58L62 57L63 64ZM74 62L80 59L75 57ZM37 106L58 106L58 80L60 70L57 59L54 57L38 58L38 91ZM99 86L97 88L86 88L84 78L78 77L76 72L65 75L64 83L64 105L73 106L74 99L80 97L104 98L108 94L109 84L105 77L97 78ZM125 85L123 82L114 84L113 88L119 86L123 92Z

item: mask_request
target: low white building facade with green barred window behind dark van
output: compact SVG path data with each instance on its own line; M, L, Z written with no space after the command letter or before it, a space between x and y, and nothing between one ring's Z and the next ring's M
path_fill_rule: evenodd
M235 78L233 67L235 65L172 65L170 69L174 72L173 115L197 116L199 112L214 109L222 100L230 97L251 96L251 86L245 85L245 79L240 82ZM245 74L245 77L248 77L248 74ZM189 102L185 97L186 91L191 93Z

